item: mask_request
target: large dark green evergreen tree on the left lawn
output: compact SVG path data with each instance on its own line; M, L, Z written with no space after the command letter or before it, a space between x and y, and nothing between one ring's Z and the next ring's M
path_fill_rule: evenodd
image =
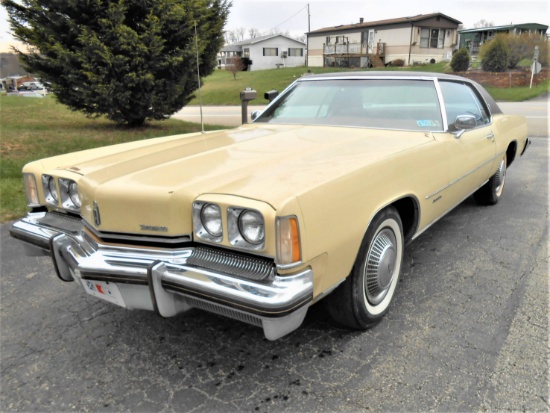
M2 0L25 68L59 102L130 126L185 106L216 68L229 0ZM198 36L195 37L195 24Z

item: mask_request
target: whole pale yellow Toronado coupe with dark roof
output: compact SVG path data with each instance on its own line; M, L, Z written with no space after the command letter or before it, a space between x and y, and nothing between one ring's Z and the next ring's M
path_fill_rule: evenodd
M199 308L274 340L323 299L365 329L404 246L472 194L497 203L529 145L480 85L434 73L304 76L253 117L31 162L11 235L128 309Z

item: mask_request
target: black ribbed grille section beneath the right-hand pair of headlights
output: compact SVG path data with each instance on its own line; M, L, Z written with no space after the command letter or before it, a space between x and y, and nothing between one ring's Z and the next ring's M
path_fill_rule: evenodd
M264 281L274 273L273 261L231 252L197 247L187 265L209 269L254 281Z

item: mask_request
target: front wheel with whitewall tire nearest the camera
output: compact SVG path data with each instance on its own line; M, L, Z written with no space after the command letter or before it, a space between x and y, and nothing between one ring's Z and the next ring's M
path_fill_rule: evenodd
M401 217L388 207L372 220L351 274L325 299L337 323L362 330L380 321L395 293L403 249Z

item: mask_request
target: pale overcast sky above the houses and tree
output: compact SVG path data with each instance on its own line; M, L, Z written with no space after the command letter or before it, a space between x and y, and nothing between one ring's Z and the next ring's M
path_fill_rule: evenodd
M226 30L257 29L267 34L276 28L293 37L311 30L440 12L473 28L480 20L504 24L540 23L550 26L548 0L232 0ZM6 10L0 7L0 41L12 40Z

